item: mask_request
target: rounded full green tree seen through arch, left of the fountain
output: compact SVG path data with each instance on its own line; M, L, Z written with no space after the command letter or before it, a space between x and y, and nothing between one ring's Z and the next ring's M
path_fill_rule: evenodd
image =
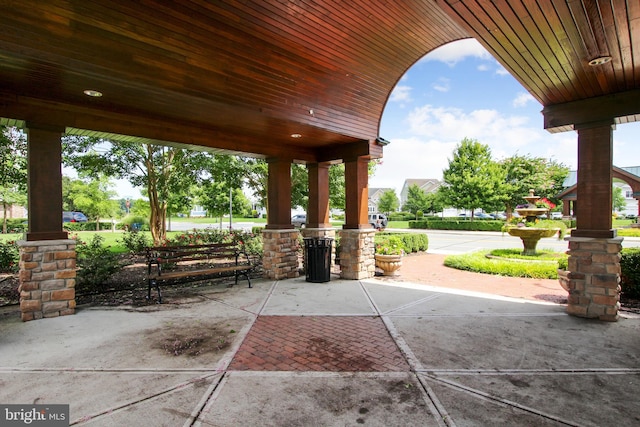
M476 140L465 138L456 146L443 177L446 202L470 210L472 220L476 209L504 202L504 169L491 159L489 146Z

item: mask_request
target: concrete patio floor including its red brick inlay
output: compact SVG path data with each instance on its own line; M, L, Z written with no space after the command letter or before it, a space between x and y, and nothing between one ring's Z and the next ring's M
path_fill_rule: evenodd
M0 403L78 426L640 424L640 318L377 278L165 298L0 312Z

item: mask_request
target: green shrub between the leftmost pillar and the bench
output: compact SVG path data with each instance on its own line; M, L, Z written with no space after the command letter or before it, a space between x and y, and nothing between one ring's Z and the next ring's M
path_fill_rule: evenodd
M76 275L79 290L95 291L122 269L118 255L108 246L103 246L104 238L95 234L89 243L78 239L76 244Z

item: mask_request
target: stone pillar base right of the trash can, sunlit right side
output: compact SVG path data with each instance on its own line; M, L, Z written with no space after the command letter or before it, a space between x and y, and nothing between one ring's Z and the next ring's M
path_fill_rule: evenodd
M360 280L376 273L374 229L340 230L340 277Z

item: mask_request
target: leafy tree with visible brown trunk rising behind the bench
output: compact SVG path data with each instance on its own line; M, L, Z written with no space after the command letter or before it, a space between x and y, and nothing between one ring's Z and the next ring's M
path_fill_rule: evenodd
M63 162L88 177L127 179L134 187L146 188L151 214L149 228L154 244L166 239L166 218L177 195L188 195L193 184L202 182L210 154L135 142L112 142L97 138L65 136Z

